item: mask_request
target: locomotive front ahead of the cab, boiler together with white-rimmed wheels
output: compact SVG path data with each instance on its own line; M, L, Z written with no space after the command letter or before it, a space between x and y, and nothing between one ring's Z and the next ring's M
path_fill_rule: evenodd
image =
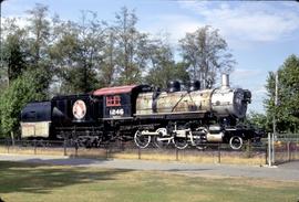
M174 83L168 92L141 93L136 117L166 123L155 131L136 131L136 145L145 148L153 138L158 147L174 142L179 149L188 145L203 148L208 142L229 142L233 149L240 149L244 140L255 137L252 130L236 127L251 102L248 89L229 87L228 75L223 75L218 88L199 88L192 85L188 91L181 91L179 84Z

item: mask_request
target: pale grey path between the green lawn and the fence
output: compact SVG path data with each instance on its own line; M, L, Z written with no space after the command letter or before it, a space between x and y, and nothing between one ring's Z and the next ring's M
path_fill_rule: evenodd
M96 160L58 156L0 155L0 161L22 161L32 163L63 164L75 167L99 167L132 170L158 170L183 174L223 177L247 177L270 180L299 181L299 161L279 167L250 167L228 164L204 164L183 162L159 162L145 160ZM1 163L1 162L0 162Z

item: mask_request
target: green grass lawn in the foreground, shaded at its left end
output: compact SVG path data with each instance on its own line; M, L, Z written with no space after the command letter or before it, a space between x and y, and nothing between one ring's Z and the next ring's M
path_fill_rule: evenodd
M6 202L297 202L299 182L0 161L0 198Z

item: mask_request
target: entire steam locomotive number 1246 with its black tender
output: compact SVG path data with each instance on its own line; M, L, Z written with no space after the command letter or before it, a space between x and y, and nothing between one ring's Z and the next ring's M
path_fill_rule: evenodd
M132 140L140 148L174 143L178 149L227 142L240 149L258 138L254 129L238 127L251 102L248 89L221 86L202 89L199 82L181 91L148 85L105 87L84 95L55 96L29 103L21 113L22 138L74 139L87 147L113 139Z

